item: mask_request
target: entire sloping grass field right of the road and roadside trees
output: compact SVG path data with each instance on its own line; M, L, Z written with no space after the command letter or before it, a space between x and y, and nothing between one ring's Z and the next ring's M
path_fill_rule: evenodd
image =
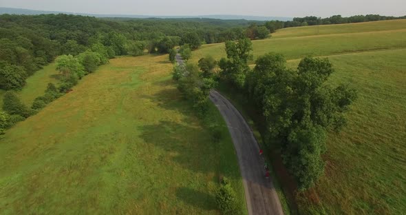
M325 35L316 35L316 28ZM359 94L346 114L347 127L329 134L325 175L298 196L299 212L403 214L406 21L287 28L275 36L279 38L253 41L255 57L278 52L292 68L306 55L329 57L336 70L329 83L349 83ZM194 54L193 61L207 54L220 59L224 45L204 45Z

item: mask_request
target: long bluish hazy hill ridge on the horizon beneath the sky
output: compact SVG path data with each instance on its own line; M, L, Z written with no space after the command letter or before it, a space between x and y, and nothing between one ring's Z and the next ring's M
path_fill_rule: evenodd
M268 20L280 20L290 21L290 17L259 17L259 16L242 16L242 15L202 15L202 16L154 16L154 15L128 15L128 14L87 14L76 12L61 12L61 11L45 11L45 10L28 10L21 8L1 8L0 14L25 14L25 15L38 15L38 14L76 14L89 17L120 17L120 18L161 18L161 19L180 19L180 18L207 18L207 19L245 19L253 21L268 21Z

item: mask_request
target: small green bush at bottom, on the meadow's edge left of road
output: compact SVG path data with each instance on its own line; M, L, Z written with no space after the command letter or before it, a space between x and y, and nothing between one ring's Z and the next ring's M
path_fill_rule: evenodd
M236 194L226 178L222 179L222 184L217 190L216 203L222 214L241 214Z

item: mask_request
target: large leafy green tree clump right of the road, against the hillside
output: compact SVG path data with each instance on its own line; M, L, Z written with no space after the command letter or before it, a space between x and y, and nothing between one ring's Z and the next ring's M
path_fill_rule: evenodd
M266 54L247 78L248 93L266 121L266 144L280 147L300 190L323 174L326 131L339 131L343 112L356 99L347 85L325 84L332 72L328 59L306 57L290 70L280 54Z

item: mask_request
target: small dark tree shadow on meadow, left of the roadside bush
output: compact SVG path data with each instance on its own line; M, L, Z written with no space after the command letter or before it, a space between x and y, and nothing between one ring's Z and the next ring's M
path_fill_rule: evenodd
M189 187L179 187L176 190L176 197L184 203L193 205L193 207L200 207L200 209L205 210L217 209L215 207L215 196L193 190Z

